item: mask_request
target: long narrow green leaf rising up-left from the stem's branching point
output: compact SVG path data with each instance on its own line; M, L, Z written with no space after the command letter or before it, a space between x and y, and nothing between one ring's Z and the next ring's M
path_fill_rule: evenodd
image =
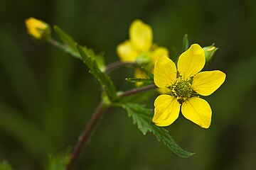
M100 84L102 85L103 89L105 89L105 92L108 98L110 98L110 101L115 101L117 99L117 91L110 77L102 72L97 66L94 52L90 49L87 49L86 47L81 47L80 45L77 45L77 47L82 60L85 62L87 67L89 67L90 73L98 81L100 81Z

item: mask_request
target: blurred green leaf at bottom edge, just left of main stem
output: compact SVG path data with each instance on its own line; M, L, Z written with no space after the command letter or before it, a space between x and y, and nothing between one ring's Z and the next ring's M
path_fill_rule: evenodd
M65 166L70 160L69 154L50 155L46 170L65 170Z

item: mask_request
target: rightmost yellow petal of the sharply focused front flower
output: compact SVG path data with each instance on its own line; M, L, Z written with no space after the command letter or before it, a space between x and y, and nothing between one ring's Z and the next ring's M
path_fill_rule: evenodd
M213 94L225 81L225 73L219 70L200 72L195 75L192 82L192 89L202 96Z

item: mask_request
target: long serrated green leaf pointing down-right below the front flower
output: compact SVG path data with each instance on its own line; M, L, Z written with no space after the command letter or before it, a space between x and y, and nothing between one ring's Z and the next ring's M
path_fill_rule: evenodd
M191 157L194 154L179 147L169 135L168 130L152 123L153 111L151 109L145 108L137 103L122 103L121 106L127 110L128 116L132 117L134 124L138 125L139 130L141 130L144 135L146 135L148 131L152 132L157 140L163 142L166 147L171 149L171 151L179 157Z

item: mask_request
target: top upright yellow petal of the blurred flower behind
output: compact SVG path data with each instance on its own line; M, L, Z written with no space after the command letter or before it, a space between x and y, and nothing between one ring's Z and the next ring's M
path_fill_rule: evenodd
M129 28L129 38L137 50L147 51L152 45L152 29L142 21L135 20Z

